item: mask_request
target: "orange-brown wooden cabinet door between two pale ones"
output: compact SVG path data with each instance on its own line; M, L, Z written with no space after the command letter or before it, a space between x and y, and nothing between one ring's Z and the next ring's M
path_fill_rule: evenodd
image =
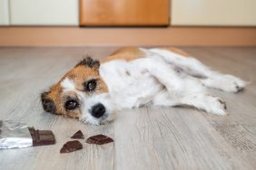
M169 0L80 0L81 25L168 25Z

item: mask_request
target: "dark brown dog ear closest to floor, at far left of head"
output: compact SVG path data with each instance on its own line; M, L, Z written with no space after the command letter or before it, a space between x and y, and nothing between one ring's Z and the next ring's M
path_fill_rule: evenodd
M54 104L54 100L50 99L48 97L48 94L49 94L48 91L45 91L41 94L41 101L42 101L44 111L55 114L56 107L55 107L55 104Z

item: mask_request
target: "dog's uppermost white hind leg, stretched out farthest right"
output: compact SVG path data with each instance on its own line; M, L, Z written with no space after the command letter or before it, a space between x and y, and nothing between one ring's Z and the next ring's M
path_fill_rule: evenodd
M185 54L181 52L176 53L168 49L151 49L147 52L153 52L187 74L199 78L202 84L208 88L237 92L246 86L244 80L232 75L212 71L209 67L202 64L201 61L189 55L184 56Z

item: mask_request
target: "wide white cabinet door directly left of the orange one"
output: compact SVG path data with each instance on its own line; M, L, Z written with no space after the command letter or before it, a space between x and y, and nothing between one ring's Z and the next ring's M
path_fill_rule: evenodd
M11 24L78 25L78 0L10 0Z

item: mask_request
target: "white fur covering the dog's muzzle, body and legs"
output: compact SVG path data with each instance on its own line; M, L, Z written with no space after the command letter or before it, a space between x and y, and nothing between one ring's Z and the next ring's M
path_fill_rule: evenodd
M189 105L216 115L226 115L222 99L208 94L207 88L237 92L246 83L234 76L211 71L202 62L162 49L140 49L145 58L134 61L108 61L100 66L100 75L109 92L86 96L75 90L72 80L64 80L64 90L73 90L82 102L85 123L99 125L114 118L115 110L144 105ZM102 103L103 118L94 118L90 109Z

